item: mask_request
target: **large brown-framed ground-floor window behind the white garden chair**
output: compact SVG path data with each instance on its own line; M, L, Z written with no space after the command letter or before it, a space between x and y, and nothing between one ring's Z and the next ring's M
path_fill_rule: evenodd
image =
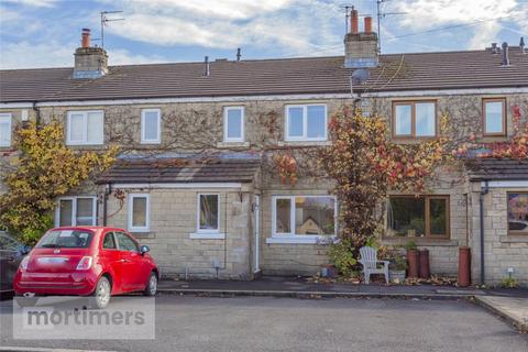
M449 238L449 197L392 196L387 228L396 237Z

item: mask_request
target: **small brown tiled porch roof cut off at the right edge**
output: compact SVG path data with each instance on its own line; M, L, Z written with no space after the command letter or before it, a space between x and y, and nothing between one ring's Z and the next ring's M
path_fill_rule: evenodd
M528 180L528 160L473 158L465 164L471 180Z

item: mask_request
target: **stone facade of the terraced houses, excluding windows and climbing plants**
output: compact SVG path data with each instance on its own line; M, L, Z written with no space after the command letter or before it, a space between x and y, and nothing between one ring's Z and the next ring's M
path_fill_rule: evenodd
M474 133L480 141L492 141L482 135L482 99L497 97L492 95L452 95L406 97L365 97L364 108L370 113L385 117L392 116L392 105L400 100L436 100L437 114L447 113L455 129L454 138L468 138ZM522 109L522 117L528 116L527 95L502 95L507 106L517 103ZM127 153L166 153L217 151L238 152L264 150L282 150L305 145L320 145L327 142L285 142L285 108L287 105L324 103L330 117L343 105L352 105L352 99L301 99L301 100L240 100L226 99L222 102L174 102L174 103L131 103L82 107L41 107L38 117L46 123L58 119L66 124L67 111L103 110L105 145L75 146L77 148L102 148L109 144L127 146ZM224 107L244 107L245 141L242 143L224 143L222 141L222 110ZM161 144L141 144L141 110L160 108L162 111ZM36 119L36 111L29 110L30 120ZM10 112L20 123L21 109L0 109ZM437 119L438 120L438 119ZM512 134L512 116L508 109L508 134ZM437 127L438 130L439 127ZM503 141L495 138L493 141ZM405 141L415 143L416 141ZM266 160L268 155L264 153ZM2 162L7 162L2 156ZM148 193L151 195L151 231L136 233L140 241L152 248L162 273L166 276L222 277L249 279L258 266L264 274L275 275L314 275L321 264L328 262L327 246L318 243L268 243L272 237L272 197L274 196L311 196L328 195L332 183L301 178L295 186L284 185L277 175L266 169L263 163L263 177L252 185L243 185L241 189L208 188L179 189L156 188L124 189L129 193ZM431 271L433 273L454 275L458 271L458 249L461 245L472 248L473 278L480 276L479 265L479 189L469 185L461 169L442 169L438 179L431 184L431 195L450 196L450 238L428 241L416 239L419 248L430 251ZM0 184L0 191L2 190ZM97 187L87 185L94 191ZM196 231L196 197L200 190L216 191L221 195L221 228L226 228L226 239L191 239ZM508 237L506 217L506 190L492 189L485 196L485 262L486 277L496 284L505 276L508 267L515 268L515 276L526 284L528 278L528 237ZM526 188L525 188L526 190ZM88 191L88 190L85 190ZM99 195L103 189L97 189ZM79 193L81 194L81 193ZM86 195L86 193L85 193ZM255 197L261 196L258 245L255 241ZM224 202L223 202L224 201ZM102 204L99 204L101 209ZM127 228L127 201L121 206L119 200L110 197L108 201L109 226ZM469 216L468 216L469 215ZM99 211L99 223L102 215ZM407 239L384 238L384 243L405 245ZM258 246L258 252L256 252ZM215 263L220 267L215 268Z

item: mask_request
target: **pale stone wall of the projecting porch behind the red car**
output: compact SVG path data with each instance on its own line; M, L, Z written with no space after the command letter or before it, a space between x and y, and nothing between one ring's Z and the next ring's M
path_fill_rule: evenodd
M220 232L226 240L190 239L197 231L197 194L220 195ZM150 232L133 233L151 248L165 277L217 277L213 261L220 263L219 278L250 279L251 193L237 189L127 189L150 194ZM242 200L241 197L242 196ZM128 201L120 205L113 196L108 201L108 224L127 229ZM101 212L99 212L101 216ZM102 222L102 219L100 219ZM226 258L226 260L224 260Z

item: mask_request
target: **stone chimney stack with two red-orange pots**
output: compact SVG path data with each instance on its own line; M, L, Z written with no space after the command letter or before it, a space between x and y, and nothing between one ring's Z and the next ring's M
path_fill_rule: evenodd
M364 32L359 32L358 10L352 10L351 32L344 36L344 67L376 67L378 63L377 33L372 30L372 18L364 19Z

